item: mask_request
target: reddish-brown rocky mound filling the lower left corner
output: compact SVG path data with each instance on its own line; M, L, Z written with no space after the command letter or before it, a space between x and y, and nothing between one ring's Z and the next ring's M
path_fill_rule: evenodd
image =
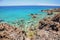
M21 30L9 24L0 24L0 40L20 40Z

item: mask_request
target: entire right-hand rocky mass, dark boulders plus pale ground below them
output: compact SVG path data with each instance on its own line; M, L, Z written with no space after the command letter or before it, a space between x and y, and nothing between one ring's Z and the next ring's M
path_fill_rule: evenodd
M53 18L46 18L39 21L37 35L40 35L41 40L60 40L60 14L55 15ZM56 21L58 20L58 22Z

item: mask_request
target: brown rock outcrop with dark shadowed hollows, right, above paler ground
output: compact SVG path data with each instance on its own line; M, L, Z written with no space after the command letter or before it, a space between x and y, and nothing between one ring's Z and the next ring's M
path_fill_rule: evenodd
M39 22L39 29L45 29L58 31L60 27L60 14L55 15L53 18L46 18Z

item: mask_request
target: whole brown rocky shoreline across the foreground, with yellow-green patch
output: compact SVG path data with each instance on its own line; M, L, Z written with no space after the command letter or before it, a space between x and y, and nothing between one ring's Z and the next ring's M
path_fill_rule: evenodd
M55 10L60 12L60 9ZM60 40L60 13L44 18L36 27L29 27L27 31L8 23L0 23L0 40Z

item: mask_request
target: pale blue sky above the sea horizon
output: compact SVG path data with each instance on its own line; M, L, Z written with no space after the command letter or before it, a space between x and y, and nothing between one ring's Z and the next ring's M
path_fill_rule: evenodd
M60 6L60 0L0 0L0 6L54 5Z

